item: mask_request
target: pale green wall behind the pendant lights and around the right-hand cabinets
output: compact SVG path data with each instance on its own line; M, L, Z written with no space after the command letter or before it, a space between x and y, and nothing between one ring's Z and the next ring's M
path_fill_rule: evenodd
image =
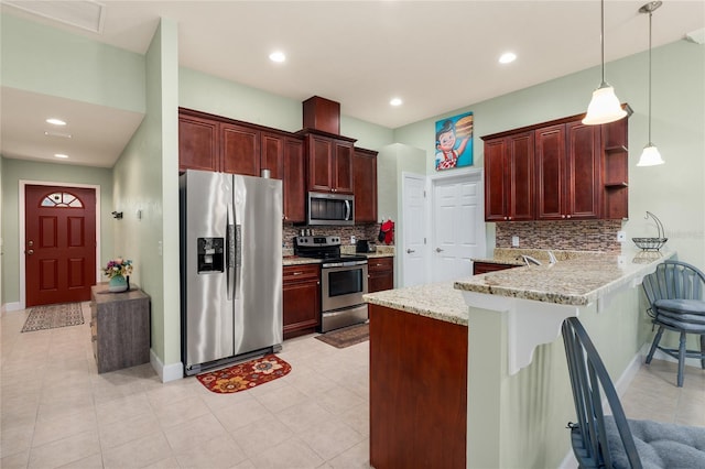
M648 53L607 64L607 79L634 113L629 119L629 214L627 239L655 236L649 210L663 222L669 247L705 270L705 46L677 41L652 51L652 140L665 165L637 167L648 139ZM435 121L473 111L475 165L484 165L480 137L585 112L599 84L598 67L487 101L460 107L394 130L394 141L426 152L434 170ZM494 223L487 223L494 246Z

